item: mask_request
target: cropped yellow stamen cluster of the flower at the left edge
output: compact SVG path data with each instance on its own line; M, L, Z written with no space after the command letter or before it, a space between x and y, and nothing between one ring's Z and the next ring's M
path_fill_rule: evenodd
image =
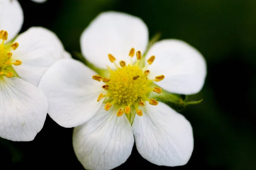
M0 40L2 42L0 43L0 76L5 75L6 77L13 77L14 73L9 70L12 65L21 65L20 60L16 60L15 62L12 61L12 50L16 50L19 46L17 42L14 42L13 44L7 44L5 45L4 42L8 39L8 32L1 30L0 31Z

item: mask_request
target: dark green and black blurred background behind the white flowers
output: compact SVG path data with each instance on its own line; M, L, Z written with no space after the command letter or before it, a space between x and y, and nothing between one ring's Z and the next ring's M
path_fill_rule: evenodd
M163 167L143 159L134 147L116 170L137 168L187 170L256 170L256 0L19 0L21 32L31 26L54 31L71 54L80 52L84 28L102 11L142 18L150 37L188 42L207 61L204 99L181 114L191 122L195 147L188 164ZM72 147L73 128L47 116L32 142L0 141L0 169L84 170Z

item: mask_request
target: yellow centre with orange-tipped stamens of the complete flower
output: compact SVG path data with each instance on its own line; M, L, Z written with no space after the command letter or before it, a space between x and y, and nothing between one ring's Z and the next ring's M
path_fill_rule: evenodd
M135 49L131 48L129 56L132 58L135 55ZM164 79L164 75L155 77L155 79L148 79L149 70L146 70L148 65L154 62L155 56L151 56L144 68L140 68L140 60L142 54L140 51L136 52L137 61L126 65L125 61L120 61L118 66L116 58L112 54L108 54L108 59L116 66L115 70L108 67L110 77L102 77L93 75L93 79L105 82L102 86L106 90L105 94L99 94L97 101L105 98L105 110L108 111L113 105L117 105L117 116L122 116L123 113L129 114L131 107L135 108L137 115L142 116L143 112L140 107L145 106L145 102L150 105L158 105L155 99L149 99L148 96L151 92L160 94L162 89L154 87L153 82L159 82ZM153 86L153 87L152 87Z

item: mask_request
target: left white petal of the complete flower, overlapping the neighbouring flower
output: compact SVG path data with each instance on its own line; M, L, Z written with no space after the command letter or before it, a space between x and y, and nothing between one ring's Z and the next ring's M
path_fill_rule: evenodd
M92 79L96 73L74 59L62 59L44 74L39 88L49 102L49 116L63 127L76 127L96 114L104 99L102 82Z

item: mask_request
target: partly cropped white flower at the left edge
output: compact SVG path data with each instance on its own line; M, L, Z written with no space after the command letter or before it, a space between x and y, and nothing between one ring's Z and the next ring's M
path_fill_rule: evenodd
M0 8L0 137L31 141L42 129L48 109L38 83L47 68L68 54L45 28L29 28L8 42L20 30L23 14L16 0L2 2Z

